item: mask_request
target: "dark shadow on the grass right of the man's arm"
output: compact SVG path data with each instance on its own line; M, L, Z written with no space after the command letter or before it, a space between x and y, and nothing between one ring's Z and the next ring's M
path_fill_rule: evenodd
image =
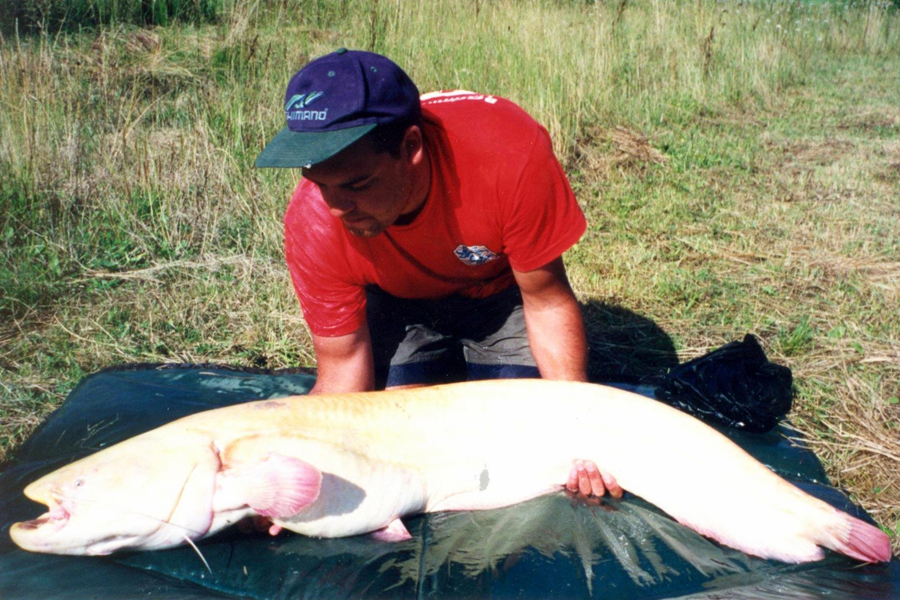
M652 320L603 302L582 304L581 310L591 381L654 385L678 365L675 344Z

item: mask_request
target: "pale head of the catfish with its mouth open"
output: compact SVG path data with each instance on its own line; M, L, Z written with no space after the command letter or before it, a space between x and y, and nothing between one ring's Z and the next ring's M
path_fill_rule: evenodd
M66 465L24 493L47 511L10 529L24 550L103 555L175 546L209 529L218 457L206 445L128 440ZM205 451L204 451L205 450Z

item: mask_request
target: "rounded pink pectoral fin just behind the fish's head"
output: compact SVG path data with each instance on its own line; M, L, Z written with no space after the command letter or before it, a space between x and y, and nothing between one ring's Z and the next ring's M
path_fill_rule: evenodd
M264 517L290 517L319 497L322 473L299 458L270 454L241 477L247 504Z

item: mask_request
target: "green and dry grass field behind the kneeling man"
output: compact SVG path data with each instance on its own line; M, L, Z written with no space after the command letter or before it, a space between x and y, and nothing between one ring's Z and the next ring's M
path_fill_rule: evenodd
M314 366L281 255L298 174L251 165L290 75L347 46L546 124L589 221L566 260L595 376L754 333L794 372L793 422L900 549L895 8L202 6L4 32L0 461L101 367Z

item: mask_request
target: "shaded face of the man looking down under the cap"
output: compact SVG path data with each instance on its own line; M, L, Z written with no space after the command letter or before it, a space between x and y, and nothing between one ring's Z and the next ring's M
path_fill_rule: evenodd
M416 208L406 149L400 158L376 153L368 138L303 169L303 176L318 186L332 216L359 237L375 237Z

